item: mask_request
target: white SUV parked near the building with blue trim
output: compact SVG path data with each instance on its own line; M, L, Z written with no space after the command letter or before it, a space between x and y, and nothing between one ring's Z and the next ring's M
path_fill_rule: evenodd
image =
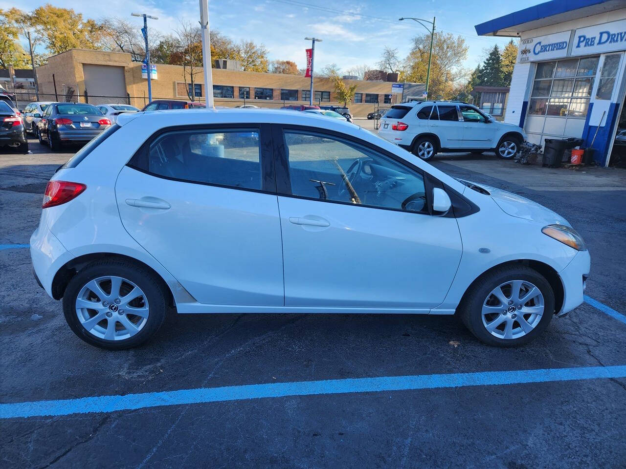
M423 101L392 106L381 119L378 134L421 159L438 152L483 153L500 158L515 156L525 141L524 131L495 121L471 104L459 101Z

